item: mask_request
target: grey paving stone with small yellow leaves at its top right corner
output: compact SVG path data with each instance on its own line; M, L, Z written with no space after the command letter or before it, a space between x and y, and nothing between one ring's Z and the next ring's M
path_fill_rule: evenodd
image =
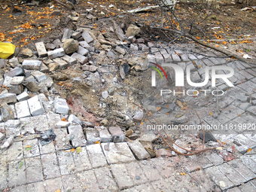
M59 169L61 175L68 175L75 170L75 162L71 151L57 151Z

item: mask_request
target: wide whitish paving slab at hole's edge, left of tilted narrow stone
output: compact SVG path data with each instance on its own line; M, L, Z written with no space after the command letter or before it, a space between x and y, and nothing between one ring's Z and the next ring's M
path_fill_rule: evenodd
M109 164L136 160L126 142L102 143L102 149Z

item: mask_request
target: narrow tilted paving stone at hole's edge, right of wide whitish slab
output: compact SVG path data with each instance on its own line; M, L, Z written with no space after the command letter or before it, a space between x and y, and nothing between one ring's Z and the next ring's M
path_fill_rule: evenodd
M133 154L135 154L137 160L145 160L150 158L148 151L145 150L145 148L139 142L139 140L130 141L130 142L127 142L127 144L129 145L130 149L133 151Z

